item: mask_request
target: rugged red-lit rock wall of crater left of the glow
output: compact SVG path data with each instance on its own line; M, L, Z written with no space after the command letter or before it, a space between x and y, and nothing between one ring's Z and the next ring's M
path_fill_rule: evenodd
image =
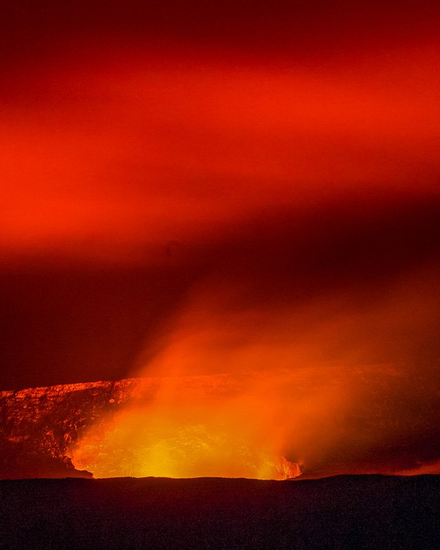
M74 468L67 456L69 445L135 396L140 382L129 379L0 392L0 478L91 476Z

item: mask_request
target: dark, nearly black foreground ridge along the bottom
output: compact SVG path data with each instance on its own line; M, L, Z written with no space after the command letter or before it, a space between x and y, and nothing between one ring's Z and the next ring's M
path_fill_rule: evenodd
M2 550L437 549L440 476L0 481Z

